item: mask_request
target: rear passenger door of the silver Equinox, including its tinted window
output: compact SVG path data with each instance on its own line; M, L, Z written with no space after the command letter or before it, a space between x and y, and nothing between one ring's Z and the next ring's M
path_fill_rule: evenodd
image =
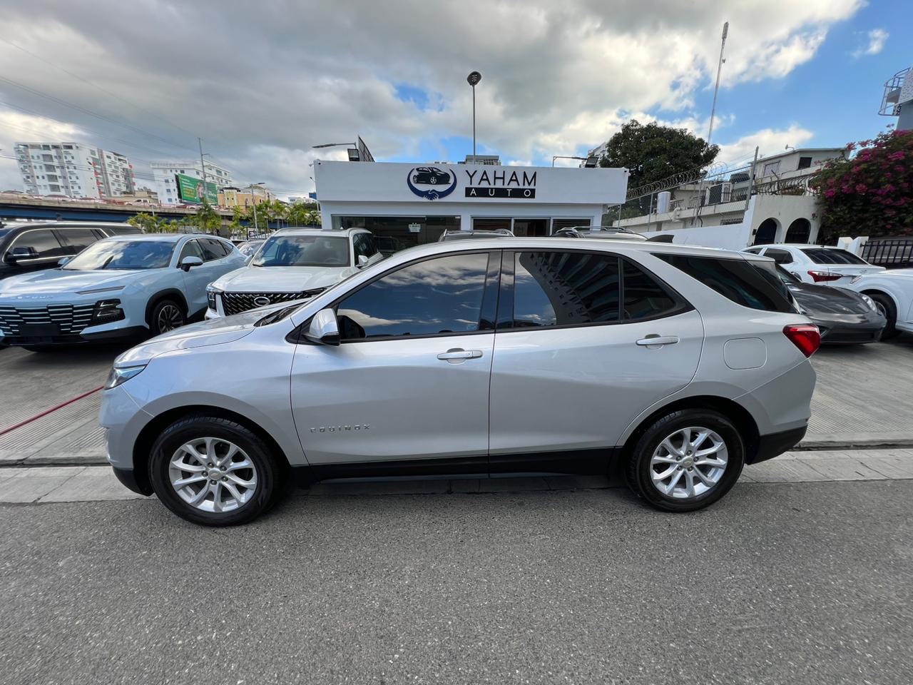
M703 334L698 312L628 258L506 251L491 468L537 452L604 454L641 411L690 383Z

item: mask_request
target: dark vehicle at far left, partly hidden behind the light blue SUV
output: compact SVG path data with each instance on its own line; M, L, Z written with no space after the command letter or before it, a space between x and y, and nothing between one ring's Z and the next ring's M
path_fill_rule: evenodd
M0 227L0 279L52 269L103 237L142 233L127 224L85 221L35 221Z

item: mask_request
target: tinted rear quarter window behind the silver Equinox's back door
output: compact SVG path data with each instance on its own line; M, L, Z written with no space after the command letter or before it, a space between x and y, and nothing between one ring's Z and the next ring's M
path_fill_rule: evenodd
M795 311L789 291L772 262L692 255L655 255L743 307L761 311Z

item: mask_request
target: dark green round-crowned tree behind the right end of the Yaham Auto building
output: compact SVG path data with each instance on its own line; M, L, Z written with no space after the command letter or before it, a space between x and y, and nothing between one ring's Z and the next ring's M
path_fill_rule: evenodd
M717 154L719 145L708 145L686 129L632 119L606 143L599 165L626 167L631 173L628 188L636 188L708 166Z

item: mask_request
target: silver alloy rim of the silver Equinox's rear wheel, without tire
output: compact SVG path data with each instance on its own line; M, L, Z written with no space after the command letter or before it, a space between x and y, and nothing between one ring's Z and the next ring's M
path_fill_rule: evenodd
M687 427L666 436L650 458L656 490L676 500L690 500L713 490L729 464L729 450L719 433Z

